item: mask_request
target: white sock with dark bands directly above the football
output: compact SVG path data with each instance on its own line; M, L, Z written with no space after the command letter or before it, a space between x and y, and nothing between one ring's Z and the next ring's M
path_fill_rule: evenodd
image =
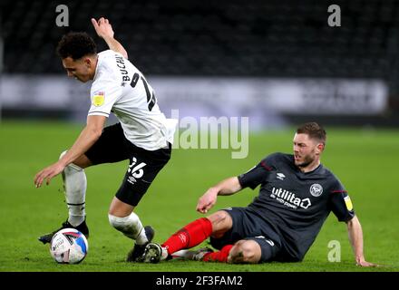
M64 153L66 151L61 154L61 157ZM68 222L73 227L82 224L86 216L84 210L86 188L87 180L83 169L73 163L63 169L63 189L69 213Z

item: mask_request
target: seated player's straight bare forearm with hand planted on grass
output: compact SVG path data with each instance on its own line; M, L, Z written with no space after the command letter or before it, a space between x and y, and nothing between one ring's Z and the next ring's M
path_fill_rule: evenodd
M355 254L357 266L377 266L373 263L365 261L363 254L363 231L359 219L355 216L346 222L349 241L352 245Z

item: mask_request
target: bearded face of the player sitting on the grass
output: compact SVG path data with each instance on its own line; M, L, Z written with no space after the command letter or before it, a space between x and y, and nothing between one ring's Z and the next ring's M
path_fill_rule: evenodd
M309 138L307 134L295 134L294 136L294 160L295 165L306 168L318 161L321 147L316 140Z

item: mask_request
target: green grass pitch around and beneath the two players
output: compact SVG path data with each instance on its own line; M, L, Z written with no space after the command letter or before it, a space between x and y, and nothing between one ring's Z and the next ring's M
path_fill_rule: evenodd
M333 214L326 220L316 242L301 263L226 265L170 261L158 265L124 262L132 246L108 223L108 207L119 188L127 162L86 169L87 222L90 249L80 265L58 265L48 246L37 237L59 227L67 217L61 177L50 186L34 188L34 174L57 160L72 145L82 125L66 123L3 121L0 123L0 271L122 271L122 272L273 272L273 271L398 271L399 270L399 131L343 130L326 128L322 162L341 179L363 226L365 257L384 265L360 268L347 239L345 223ZM145 225L156 229L155 241L195 218L198 198L210 186L236 176L271 152L292 150L293 130L251 134L248 158L232 160L231 150L174 150L170 163L141 199L136 213ZM245 189L219 197L211 212L228 206L246 206L258 189ZM328 262L328 242L341 245L341 261ZM199 247L203 247L206 243Z

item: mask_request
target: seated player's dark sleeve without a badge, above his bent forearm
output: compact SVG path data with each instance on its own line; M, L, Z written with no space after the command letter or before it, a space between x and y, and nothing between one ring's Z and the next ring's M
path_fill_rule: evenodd
M271 162L272 159L267 157L266 159L261 160L258 165L254 166L252 169L249 169L247 172L239 175L238 181L241 185L241 188L256 189L259 184L268 178L270 171L273 170Z

